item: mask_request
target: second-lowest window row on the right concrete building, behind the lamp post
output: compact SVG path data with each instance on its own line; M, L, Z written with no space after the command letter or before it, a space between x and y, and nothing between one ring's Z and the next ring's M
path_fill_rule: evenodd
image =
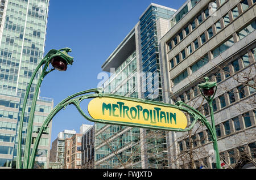
M233 132L237 132L243 130L247 127L253 126L254 116L256 115L256 110L252 112L247 112L238 117L234 117L228 121L222 122L215 126L217 138L221 138L223 136L232 134ZM209 130L201 131L191 137L191 145L193 148L199 147L200 145L204 145L207 142L212 141ZM190 148L189 138L181 140L177 142L179 145L179 151L185 151Z

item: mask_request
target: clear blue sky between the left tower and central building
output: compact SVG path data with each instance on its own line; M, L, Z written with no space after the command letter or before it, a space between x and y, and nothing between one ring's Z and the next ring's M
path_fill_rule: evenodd
M42 83L40 96L54 99L96 88L101 65L126 37L150 3L178 9L185 0L52 0L46 35L45 54L50 49L69 47L74 63L65 72L53 71ZM86 104L82 108L86 112ZM64 129L76 130L86 121L72 105L61 110L52 122L51 142Z

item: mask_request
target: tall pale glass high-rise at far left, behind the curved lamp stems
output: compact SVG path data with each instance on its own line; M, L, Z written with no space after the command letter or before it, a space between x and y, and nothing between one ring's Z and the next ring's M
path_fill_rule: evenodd
M43 58L46 39L48 0L1 1L0 6L0 168L15 168L19 117L32 72ZM35 91L31 87L28 105ZM53 107L53 100L39 97L32 137ZM30 108L24 116L24 135ZM24 148L23 136L23 147ZM51 124L42 136L36 168L47 168ZM22 151L22 153L24 153ZM44 155L44 156L42 156ZM40 157L39 157L40 156ZM40 158L40 161L39 161Z

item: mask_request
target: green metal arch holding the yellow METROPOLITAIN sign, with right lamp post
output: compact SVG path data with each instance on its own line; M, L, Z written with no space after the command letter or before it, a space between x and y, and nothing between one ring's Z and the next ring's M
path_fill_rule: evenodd
M52 118L68 105L75 105L79 113L88 121L106 123L110 125L121 125L130 127L151 128L154 130L185 132L191 130L197 121L201 121L207 126L213 141L213 148L216 151L217 168L220 166L220 156L218 154L217 136L214 129L214 119L212 111L212 100L217 90L216 82L206 82L200 84L200 91L209 102L212 125L208 120L191 106L179 101L176 105L166 104L139 98L105 94L102 89L89 89L69 96L61 101L44 121L34 143L28 168L34 167L35 156L39 145L39 140L46 130ZM215 89L214 89L215 88ZM80 103L85 99L92 99L88 104L88 114L80 107ZM188 126L185 113L193 117L193 122Z

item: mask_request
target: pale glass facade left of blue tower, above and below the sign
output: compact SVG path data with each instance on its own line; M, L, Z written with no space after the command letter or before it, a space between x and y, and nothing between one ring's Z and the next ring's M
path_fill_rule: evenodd
M104 93L138 97L135 51L114 71L104 83L103 88ZM94 166L96 169L141 168L139 128L96 123L95 131Z

